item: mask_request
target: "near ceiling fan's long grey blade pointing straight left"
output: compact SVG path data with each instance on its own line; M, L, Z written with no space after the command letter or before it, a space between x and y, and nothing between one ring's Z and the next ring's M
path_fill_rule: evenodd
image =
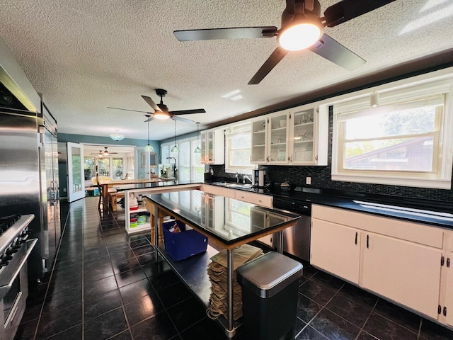
M275 26L205 28L202 30L173 30L179 41L272 38L277 34Z

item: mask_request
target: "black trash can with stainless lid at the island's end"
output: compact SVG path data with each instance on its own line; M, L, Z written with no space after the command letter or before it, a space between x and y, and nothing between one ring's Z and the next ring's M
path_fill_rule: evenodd
M245 339L294 339L302 263L273 251L237 268Z

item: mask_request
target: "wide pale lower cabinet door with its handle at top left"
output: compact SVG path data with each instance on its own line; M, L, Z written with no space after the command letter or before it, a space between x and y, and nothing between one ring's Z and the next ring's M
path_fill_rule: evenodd
M437 319L441 249L364 234L361 286Z

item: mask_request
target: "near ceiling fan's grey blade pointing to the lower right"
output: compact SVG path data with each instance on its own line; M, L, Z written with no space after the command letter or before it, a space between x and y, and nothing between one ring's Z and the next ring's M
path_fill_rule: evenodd
M323 34L318 42L309 47L309 50L348 71L357 69L367 62L326 34Z

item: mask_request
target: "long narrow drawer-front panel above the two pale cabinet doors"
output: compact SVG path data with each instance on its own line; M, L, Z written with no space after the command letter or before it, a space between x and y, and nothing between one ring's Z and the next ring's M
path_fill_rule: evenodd
M322 205L312 205L311 217L340 225L347 225L383 234L397 239L433 246L443 247L444 232L441 228L422 225L416 222L406 222L391 217L380 217L366 212L354 212L339 208L328 208Z

